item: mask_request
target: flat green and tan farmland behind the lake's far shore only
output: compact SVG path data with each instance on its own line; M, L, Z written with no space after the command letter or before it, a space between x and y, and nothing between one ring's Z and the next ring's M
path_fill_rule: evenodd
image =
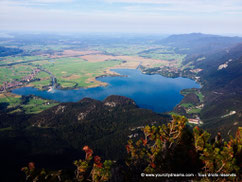
M35 47L41 48L41 46ZM116 74L110 69L174 66L179 65L184 58L184 55L175 54L170 48L157 46L117 45L114 48L112 46L102 47L102 49L91 47L83 50L59 47L62 49L52 53L5 57L0 62L2 80L21 81L24 76L30 75L33 69L38 68L40 72L24 85L46 89L51 86L51 76L53 76L60 88L96 87L105 85L97 81L96 77ZM45 49L41 51L45 52ZM4 76L6 73L10 73L10 76Z

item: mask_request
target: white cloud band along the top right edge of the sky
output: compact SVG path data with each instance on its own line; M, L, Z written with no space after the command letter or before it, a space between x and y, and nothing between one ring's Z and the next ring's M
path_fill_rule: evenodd
M242 10L241 0L102 0L111 4L126 4L126 9L145 11L186 11L200 12L224 12Z

